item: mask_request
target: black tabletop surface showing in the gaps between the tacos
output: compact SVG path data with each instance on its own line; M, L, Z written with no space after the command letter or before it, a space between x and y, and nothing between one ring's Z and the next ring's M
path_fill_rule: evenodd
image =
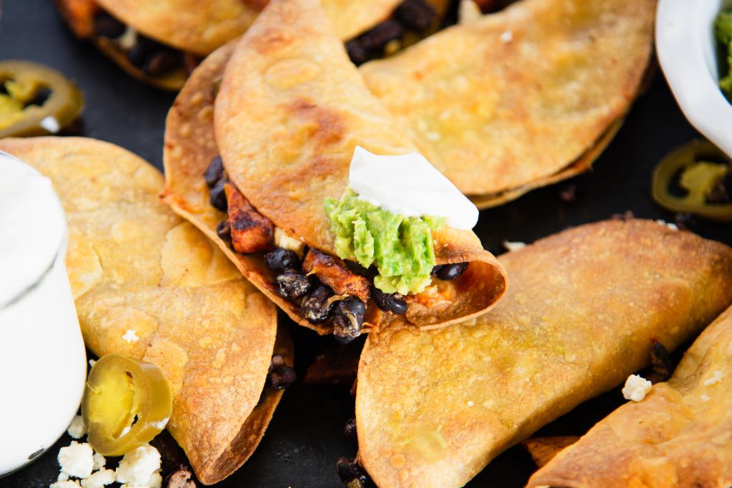
M143 86L93 47L75 40L51 0L5 1L0 18L0 59L31 59L64 72L78 83L86 97L83 135L119 144L162 169L163 126L174 95ZM539 189L499 209L483 211L476 233L486 247L496 252L504 240L530 242L572 225L628 210L636 217L673 222L673 214L659 209L651 200L651 170L668 151L695 137L698 133L681 115L658 72L616 139L597 160L594 171ZM569 185L576 187L575 203L564 203L559 198L560 191ZM732 244L728 225L702 223L695 230ZM280 320L289 323L294 335L296 369L302 377L319 351L334 343L329 337L317 337L294 326L283 314ZM32 360L30 356L29 361ZM580 435L621 401L618 390L610 391L540 433ZM48 408L53 408L52 398L48 399ZM352 457L356 452L354 443L345 440L341 433L343 424L353 414L354 400L348 388L296 382L285 392L250 461L217 486L343 487L335 473L335 460L340 456ZM59 448L69 443L70 438L64 435L37 462L0 479L0 487L48 487L58 474ZM494 460L468 487L520 487L534 469L523 448L515 447Z

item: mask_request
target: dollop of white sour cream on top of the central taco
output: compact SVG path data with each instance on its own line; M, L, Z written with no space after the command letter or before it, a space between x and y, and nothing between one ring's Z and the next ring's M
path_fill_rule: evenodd
M348 185L361 200L394 214L444 217L461 230L478 222L477 207L417 152L381 156L356 146Z

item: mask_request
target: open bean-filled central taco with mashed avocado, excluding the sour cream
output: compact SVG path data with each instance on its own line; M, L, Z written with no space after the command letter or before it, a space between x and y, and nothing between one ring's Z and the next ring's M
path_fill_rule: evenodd
M364 323L404 315L439 327L493 306L506 276L474 233L347 190L356 146L414 151L318 2L273 1L179 94L166 126L163 197L291 318L343 342Z

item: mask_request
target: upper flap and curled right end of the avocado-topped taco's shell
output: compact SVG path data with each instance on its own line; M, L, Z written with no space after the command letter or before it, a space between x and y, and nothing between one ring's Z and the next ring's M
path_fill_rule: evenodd
M214 129L228 176L250 203L331 255L324 200L346 190L356 145L376 154L416 150L366 89L316 0L272 1L244 34L225 68ZM451 282L452 304L413 303L408 320L445 326L492 307L507 285L498 260L472 232L445 227L433 238L438 263L471 266Z

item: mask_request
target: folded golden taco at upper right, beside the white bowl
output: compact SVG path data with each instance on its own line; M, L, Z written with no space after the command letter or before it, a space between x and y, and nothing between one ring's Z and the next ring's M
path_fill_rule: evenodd
M463 193L515 198L571 176L562 170L623 118L651 57L655 5L523 0L360 70Z

